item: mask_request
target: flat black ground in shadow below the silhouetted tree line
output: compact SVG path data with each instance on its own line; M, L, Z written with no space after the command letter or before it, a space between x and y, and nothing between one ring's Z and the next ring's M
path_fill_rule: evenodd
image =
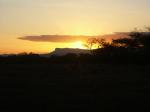
M1 112L127 112L150 106L150 65L0 64Z

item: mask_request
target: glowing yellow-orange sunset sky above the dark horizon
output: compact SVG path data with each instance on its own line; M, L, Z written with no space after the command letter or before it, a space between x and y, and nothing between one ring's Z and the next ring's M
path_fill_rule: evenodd
M0 53L75 48L82 38L64 35L104 35L145 26L150 26L150 0L0 0ZM43 41L44 35L50 40Z

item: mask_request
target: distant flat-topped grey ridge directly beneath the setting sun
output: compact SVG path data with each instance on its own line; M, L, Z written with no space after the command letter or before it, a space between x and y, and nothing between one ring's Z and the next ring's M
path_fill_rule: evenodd
M78 49L78 48L56 48L55 51L51 52L50 55L64 56L69 53L74 54L90 54L90 50Z

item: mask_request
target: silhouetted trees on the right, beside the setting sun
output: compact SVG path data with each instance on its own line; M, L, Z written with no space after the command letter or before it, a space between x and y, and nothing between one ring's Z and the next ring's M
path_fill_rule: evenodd
M124 47L124 48L150 48L150 27L146 30L135 30L129 33L129 37L113 39L107 42L104 38L89 38L85 47L92 50L106 47Z

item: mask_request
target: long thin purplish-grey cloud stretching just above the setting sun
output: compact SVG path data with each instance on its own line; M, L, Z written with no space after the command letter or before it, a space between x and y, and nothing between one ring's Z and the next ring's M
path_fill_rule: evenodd
M60 42L60 43L69 43L75 41L86 41L88 38L105 38L108 41L116 38L127 37L129 33L118 32L108 35L99 35L99 36L73 36L73 35L40 35L40 36L24 36L19 37L21 40L28 40L34 42Z

